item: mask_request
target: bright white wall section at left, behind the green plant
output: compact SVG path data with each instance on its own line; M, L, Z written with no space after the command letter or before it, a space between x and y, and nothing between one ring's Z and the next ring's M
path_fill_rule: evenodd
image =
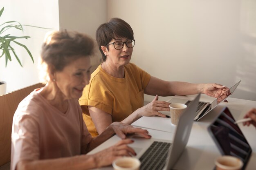
M0 8L4 7L0 24L6 21L16 20L21 24L59 29L58 0L0 0ZM34 57L34 64L22 47L15 48L20 57L23 68L16 58L8 62L5 68L5 56L0 58L0 79L7 82L7 92L36 84L38 77L38 57L40 57L41 45L45 33L52 29L38 29L24 26L24 33L9 31L17 36L30 36L28 40L20 40L25 44ZM15 45L13 45L15 46ZM16 46L15 46L16 47Z

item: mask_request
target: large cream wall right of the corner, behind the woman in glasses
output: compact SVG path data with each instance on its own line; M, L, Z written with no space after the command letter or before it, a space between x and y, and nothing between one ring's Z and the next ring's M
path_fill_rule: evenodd
M242 80L232 97L256 100L255 0L108 0L113 17L132 27L131 62L151 75L227 86Z

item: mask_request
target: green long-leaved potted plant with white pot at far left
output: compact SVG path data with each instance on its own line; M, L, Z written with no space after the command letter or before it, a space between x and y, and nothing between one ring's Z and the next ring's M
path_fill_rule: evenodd
M0 10L0 17L4 11L4 7ZM6 33L5 31L9 29L17 29L22 31L23 33L23 26L31 26L31 25L22 25L20 22L17 21L7 21L3 24L0 24L0 58L5 56L5 66L7 66L8 61L12 61L12 55L16 58L20 66L22 67L22 64L20 62L20 59L18 55L15 52L15 49L13 48L13 44L18 44L22 48L24 48L27 53L29 54L29 57L31 58L32 62L34 63L34 58L31 55L29 49L24 44L21 44L18 42L19 39L28 39L29 36L13 36L9 33ZM33 26L37 28L42 28L38 26ZM43 28L45 29L45 28ZM0 95L6 93L6 82L0 81Z

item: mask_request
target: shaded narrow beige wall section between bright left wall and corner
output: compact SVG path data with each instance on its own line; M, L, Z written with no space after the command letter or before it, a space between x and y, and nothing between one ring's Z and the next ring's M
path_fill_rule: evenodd
M105 0L59 0L60 29L86 33L94 39L95 55L91 58L92 70L102 62L95 40L100 24L107 22L107 1Z

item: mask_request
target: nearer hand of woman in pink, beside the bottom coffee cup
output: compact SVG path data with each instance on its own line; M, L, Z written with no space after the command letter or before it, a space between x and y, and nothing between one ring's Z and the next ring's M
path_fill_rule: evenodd
M128 144L133 142L131 139L124 139L117 142L114 146L94 154L93 157L96 160L97 167L109 166L119 157L136 155L135 151L128 146Z

